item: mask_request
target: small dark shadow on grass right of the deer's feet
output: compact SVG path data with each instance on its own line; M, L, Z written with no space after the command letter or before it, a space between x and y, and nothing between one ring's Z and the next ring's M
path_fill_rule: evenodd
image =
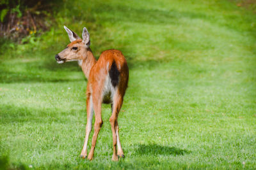
M186 153L191 153L188 150L157 144L139 144L136 146L135 152L137 155L184 155Z

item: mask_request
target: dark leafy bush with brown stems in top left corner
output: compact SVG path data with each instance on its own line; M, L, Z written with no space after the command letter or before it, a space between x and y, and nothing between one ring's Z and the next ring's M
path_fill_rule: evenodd
M0 36L20 40L24 36L47 30L55 4L61 0L3 0L0 1ZM49 21L45 18L49 18Z

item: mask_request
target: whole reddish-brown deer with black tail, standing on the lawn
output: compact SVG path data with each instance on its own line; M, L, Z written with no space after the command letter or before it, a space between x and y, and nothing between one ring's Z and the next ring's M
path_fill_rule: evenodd
M56 62L77 61L81 67L88 83L86 87L86 111L87 123L84 145L80 157L92 160L97 136L102 127L101 106L102 103L111 104L111 131L113 134L113 156L112 160L124 158L124 152L120 143L118 113L124 101L125 90L127 89L129 79L129 68L124 55L120 50L106 50L100 54L98 60L93 56L90 49L90 34L86 27L83 28L82 38L79 38L75 32L67 31L70 43L60 53L55 55ZM94 133L92 137L92 146L87 157L87 144L90 132L92 131L93 111L95 113ZM116 150L117 145L117 150Z

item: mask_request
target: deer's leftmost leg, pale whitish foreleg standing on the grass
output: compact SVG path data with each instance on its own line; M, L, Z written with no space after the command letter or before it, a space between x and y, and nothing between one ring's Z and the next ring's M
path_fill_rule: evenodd
M87 124L86 124L86 134L84 138L84 145L80 157L85 159L87 157L87 144L92 131L92 118L93 118L93 103L92 96L88 96L86 100L86 109L87 109Z

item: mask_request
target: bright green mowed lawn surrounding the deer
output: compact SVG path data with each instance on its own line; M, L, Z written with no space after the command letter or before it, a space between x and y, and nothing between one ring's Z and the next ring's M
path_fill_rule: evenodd
M2 42L2 166L256 169L256 15L250 8L233 1L73 1L54 15L55 26L41 38ZM111 161L106 104L94 159L79 158L87 80L76 62L54 60L69 43L63 25L79 35L86 26L95 57L116 48L127 58L129 88L118 117L125 159L119 162Z

